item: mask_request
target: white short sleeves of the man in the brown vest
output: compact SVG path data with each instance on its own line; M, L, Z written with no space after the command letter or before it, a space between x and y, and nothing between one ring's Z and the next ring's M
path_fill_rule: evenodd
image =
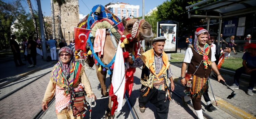
M216 49L216 45L214 45L213 47L211 47L211 50L212 50L212 57L211 57L211 62L214 62L216 61L216 58L215 58L215 50ZM193 57L193 52L192 52L192 48L188 48L185 52L185 57L184 57L184 60L183 62L185 63L190 63L191 62L191 59Z

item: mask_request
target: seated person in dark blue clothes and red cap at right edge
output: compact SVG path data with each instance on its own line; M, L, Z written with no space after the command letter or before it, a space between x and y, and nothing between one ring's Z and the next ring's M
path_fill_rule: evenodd
M248 52L245 52L242 57L243 66L235 70L234 83L230 86L230 88L239 89L239 78L241 77L241 74L246 73L251 75L246 94L253 95L253 88L256 81L256 44L249 43L244 47L244 49L246 48Z

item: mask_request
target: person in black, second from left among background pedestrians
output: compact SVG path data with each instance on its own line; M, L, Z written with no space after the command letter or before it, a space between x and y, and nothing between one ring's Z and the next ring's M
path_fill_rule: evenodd
M27 60L28 60L28 68L29 67L36 67L36 48L38 47L38 44L36 43L36 41L33 40L32 36L28 37L28 46L27 46ZM31 61L31 58L33 59L33 63Z

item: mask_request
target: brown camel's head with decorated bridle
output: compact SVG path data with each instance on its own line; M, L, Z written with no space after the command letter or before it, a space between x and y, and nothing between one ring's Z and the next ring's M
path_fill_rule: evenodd
M125 17L122 19L122 22L124 24L125 30L124 35L131 34L133 24L138 21L138 19L131 18L126 21ZM138 34L134 38L136 41L140 40L151 40L153 38L154 34L152 32L152 26L146 22L145 20L141 21L140 27L138 29Z

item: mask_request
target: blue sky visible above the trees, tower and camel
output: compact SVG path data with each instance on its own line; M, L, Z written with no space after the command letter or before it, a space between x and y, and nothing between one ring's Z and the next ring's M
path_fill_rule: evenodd
M12 2L14 0L3 0L4 2ZM38 9L37 4L35 4L37 0L31 0L33 9ZM139 16L142 16L142 0L78 0L79 2L79 14L89 14L90 11L86 7L86 5L82 2L84 1L88 8L91 10L94 5L102 4L106 5L110 2L124 2L130 3L131 5L140 5ZM144 0L145 1L145 14L147 11L149 12L151 9L155 8L156 6L162 4L166 0ZM22 6L25 8L27 12L29 12L27 0L22 0ZM41 8L44 16L51 16L51 2L50 0L41 0Z

